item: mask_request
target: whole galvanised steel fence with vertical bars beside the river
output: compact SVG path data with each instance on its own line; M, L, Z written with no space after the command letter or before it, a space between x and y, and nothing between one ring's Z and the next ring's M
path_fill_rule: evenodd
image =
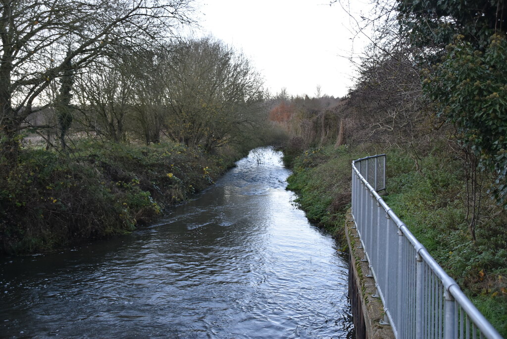
M377 193L385 154L352 161L352 218L397 338L501 338Z

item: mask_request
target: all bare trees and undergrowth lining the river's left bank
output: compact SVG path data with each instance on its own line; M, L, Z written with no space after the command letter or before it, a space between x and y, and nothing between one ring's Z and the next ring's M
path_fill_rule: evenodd
M249 60L177 35L194 23L192 1L8 6L1 254L131 231L277 139Z

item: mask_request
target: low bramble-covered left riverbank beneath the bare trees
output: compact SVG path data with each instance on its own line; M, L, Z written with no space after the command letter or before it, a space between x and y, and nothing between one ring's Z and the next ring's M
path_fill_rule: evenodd
M70 153L25 148L0 162L0 253L51 251L130 232L220 177L240 154L80 141Z

